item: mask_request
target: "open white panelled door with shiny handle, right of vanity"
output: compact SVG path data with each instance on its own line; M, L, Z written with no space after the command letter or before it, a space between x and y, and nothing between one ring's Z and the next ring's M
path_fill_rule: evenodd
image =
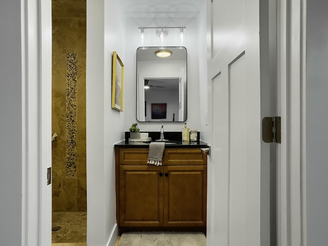
M261 147L259 1L208 0L208 34L208 245L270 245L269 193L261 193L269 182L261 158L269 152Z

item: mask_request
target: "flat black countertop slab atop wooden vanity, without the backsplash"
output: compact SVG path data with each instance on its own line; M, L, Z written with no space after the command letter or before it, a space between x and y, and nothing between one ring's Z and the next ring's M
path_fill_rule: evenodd
M166 144L165 148L208 148L207 142L199 141L170 141L174 144ZM128 140L122 140L114 145L114 147L120 148L149 148L150 142L129 142Z

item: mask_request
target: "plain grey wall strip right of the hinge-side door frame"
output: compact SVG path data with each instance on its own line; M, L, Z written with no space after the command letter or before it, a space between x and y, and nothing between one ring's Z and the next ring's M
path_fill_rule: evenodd
M328 242L328 2L307 1L306 213L308 245Z

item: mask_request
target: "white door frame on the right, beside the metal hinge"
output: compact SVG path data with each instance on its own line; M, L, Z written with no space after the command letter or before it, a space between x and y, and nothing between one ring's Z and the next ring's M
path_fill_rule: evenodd
M306 0L278 0L277 14L278 114L281 116L277 163L277 241L279 246L298 246L306 245Z

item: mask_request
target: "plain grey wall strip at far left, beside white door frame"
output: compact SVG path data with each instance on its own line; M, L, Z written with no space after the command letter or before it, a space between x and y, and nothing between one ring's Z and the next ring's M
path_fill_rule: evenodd
M0 2L0 245L22 243L20 20L20 0Z

